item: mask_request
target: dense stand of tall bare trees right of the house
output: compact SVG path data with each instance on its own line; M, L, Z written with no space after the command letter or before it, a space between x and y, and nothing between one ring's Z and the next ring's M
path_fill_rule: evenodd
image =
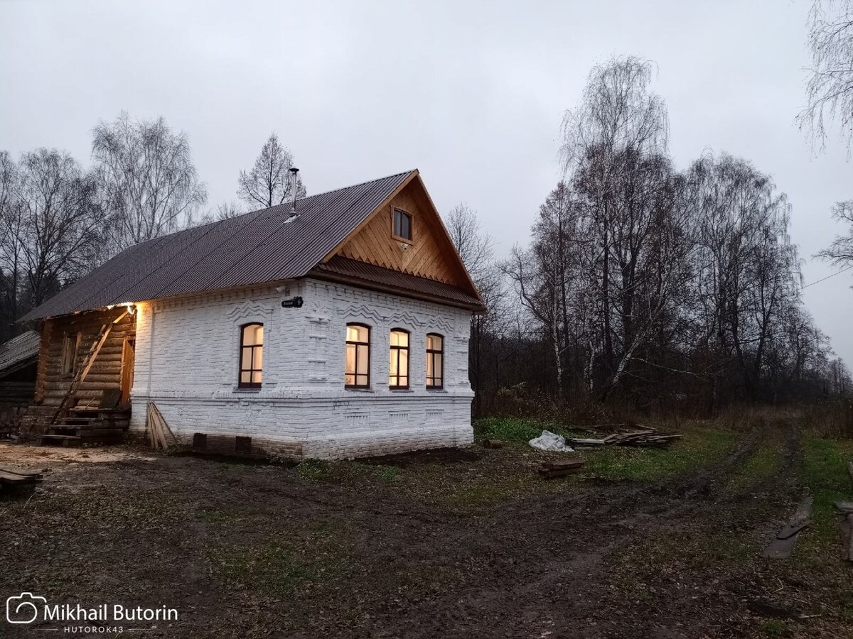
M451 212L451 234L479 233L461 255L490 305L473 324L480 414L543 401L711 413L850 393L804 308L785 194L727 153L676 169L652 74L635 58L590 73L563 123L565 177L529 245L472 257L466 247L490 240L472 211ZM850 261L844 241L825 251L837 264Z

